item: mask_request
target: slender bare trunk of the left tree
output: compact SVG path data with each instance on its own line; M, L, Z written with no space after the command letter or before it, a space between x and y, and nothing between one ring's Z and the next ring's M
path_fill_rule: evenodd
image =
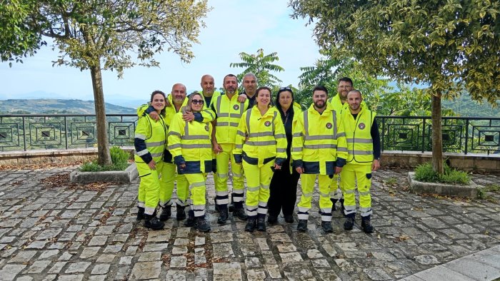
M92 87L94 88L94 106L96 108L97 163L99 165L111 165L108 131L106 129L106 106L104 105L104 91L102 90L101 63L99 63L99 60L97 61L96 66L90 67Z

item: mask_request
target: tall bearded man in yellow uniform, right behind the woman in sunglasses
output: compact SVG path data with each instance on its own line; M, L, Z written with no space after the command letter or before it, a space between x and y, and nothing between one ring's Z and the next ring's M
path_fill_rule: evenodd
M233 74L224 77L224 94L212 102L211 109L216 113L216 122L212 132L212 146L216 153L215 189L216 205L219 209L217 223L224 224L228 219L229 193L227 179L229 161L233 173L233 215L241 220L246 220L243 208L244 184L241 164L234 161L234 141L239 121L249 102L238 101L238 79Z

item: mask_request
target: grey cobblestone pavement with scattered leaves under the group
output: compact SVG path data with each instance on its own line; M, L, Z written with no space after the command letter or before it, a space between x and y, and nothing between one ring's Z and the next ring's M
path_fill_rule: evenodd
M374 173L372 235L359 218L344 231L338 211L334 233L324 233L317 197L307 233L283 218L266 233L244 232L231 215L217 225L211 178L210 233L174 218L148 231L135 218L138 183L102 191L41 183L71 170L0 170L0 280L394 280L500 244L498 191L489 200L414 195L408 170ZM474 180L500 185L499 175Z

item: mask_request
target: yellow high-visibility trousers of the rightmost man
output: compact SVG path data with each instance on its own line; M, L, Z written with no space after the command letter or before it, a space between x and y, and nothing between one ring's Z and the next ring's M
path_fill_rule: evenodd
M344 165L341 171L341 186L344 192L345 214L356 213L356 182L359 193L359 211L361 217L371 215L371 163L369 165Z

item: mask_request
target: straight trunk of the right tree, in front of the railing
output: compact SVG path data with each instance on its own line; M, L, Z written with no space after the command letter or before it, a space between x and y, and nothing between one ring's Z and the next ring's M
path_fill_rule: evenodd
M439 174L443 169L443 135L441 131L441 93L432 95L432 169Z

